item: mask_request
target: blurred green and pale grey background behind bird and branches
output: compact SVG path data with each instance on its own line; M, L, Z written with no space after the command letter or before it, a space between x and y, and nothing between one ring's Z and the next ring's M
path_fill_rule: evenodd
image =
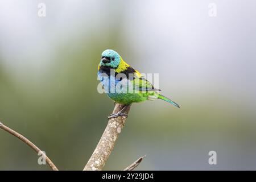
M46 17L38 4L46 4ZM217 16L209 16L209 3ZM256 2L0 1L0 120L63 170L80 170L113 110L101 52L159 73L163 101L131 107L105 169L256 169ZM208 152L217 152L217 165ZM0 131L1 170L49 170Z

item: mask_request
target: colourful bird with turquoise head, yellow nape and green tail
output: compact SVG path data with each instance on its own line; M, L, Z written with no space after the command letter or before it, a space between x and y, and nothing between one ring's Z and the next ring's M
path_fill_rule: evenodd
M158 98L180 108L176 102L159 94L160 89L154 88L146 77L127 64L112 49L106 49L101 53L100 64L98 64L98 79L110 99L115 103L124 105L118 113L110 114L109 119L119 116L127 117L123 111L134 102Z

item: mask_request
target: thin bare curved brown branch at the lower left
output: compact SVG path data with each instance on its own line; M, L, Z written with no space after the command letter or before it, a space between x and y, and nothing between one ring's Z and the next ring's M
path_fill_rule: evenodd
M27 138L23 137L21 134L17 133L16 131L10 129L9 127L3 125L3 123L1 123L1 122L0 122L0 128L5 130L5 131L7 131L8 133L14 135L18 139L22 140L22 142L26 143L28 146L30 146L38 154L40 152L44 156L44 158L46 159L46 162L49 165L49 167L51 167L53 171L59 171L57 169L57 167L55 166L55 164L53 164L52 161L47 157L47 155L44 154L44 152L42 152L38 147L36 147L34 143L30 142L30 140L28 140Z

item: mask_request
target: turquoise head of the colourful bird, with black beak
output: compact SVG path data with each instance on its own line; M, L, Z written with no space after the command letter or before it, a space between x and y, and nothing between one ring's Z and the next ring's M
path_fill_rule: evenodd
M111 49L106 49L101 54L100 65L117 68L121 61L121 56Z

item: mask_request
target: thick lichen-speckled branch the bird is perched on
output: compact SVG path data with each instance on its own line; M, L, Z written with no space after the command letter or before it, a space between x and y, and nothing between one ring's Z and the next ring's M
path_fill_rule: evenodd
M118 113L123 108L122 104L115 104L113 113ZM128 114L130 106L126 108L124 113ZM111 154L118 135L121 133L123 126L125 126L126 117L119 116L117 118L109 119L108 125L100 141L97 144L92 156L84 167L84 171L100 171L105 166L106 161Z

